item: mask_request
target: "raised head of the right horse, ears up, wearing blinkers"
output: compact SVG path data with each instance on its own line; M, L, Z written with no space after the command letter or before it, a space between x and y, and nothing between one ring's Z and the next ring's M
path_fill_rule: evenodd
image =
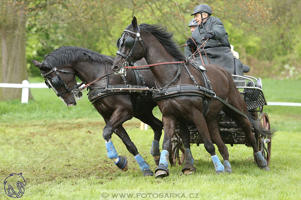
M114 60L112 70L116 74L124 74L124 67L133 65L137 60L145 56L145 46L140 38L140 27L137 25L136 17L128 25L117 41L117 56Z

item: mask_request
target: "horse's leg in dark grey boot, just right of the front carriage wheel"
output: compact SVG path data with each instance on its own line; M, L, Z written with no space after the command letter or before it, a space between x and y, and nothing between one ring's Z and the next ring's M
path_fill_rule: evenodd
M187 175L195 172L196 169L193 167L194 159L190 151L190 131L186 123L180 123L179 128L180 128L180 136L185 148L185 157L184 157L185 165L182 168L182 172Z

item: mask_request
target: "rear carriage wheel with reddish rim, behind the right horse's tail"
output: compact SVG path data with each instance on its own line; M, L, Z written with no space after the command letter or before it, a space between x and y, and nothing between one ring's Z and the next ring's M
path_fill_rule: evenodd
M258 115L258 121L262 128L266 130L271 130L270 120L269 117L267 116L267 113L260 113ZM256 138L256 142L257 142L257 147L261 152L263 158L267 160L267 166L269 166L270 159L271 159L272 138L271 137L264 138L262 136L259 136L259 138ZM254 154L254 158L255 158L255 154Z

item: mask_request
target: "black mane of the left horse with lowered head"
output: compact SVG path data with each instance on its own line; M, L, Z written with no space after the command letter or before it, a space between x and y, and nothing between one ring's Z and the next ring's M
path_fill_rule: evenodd
M45 55L44 60L50 68L60 68L75 61L96 61L111 64L114 62L114 58L111 56L106 56L90 49L73 46L57 48L48 55Z

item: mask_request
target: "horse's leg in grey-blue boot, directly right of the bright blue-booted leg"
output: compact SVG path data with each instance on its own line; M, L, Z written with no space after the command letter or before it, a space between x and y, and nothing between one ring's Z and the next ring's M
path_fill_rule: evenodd
M229 163L229 153L228 148L224 144L222 138L219 134L219 128L218 124L221 120L221 116L217 115L215 118L211 119L209 122L207 122L208 131L210 134L210 138L214 144L219 148L219 153L222 155L224 159L224 168L225 172L232 173L231 165Z

